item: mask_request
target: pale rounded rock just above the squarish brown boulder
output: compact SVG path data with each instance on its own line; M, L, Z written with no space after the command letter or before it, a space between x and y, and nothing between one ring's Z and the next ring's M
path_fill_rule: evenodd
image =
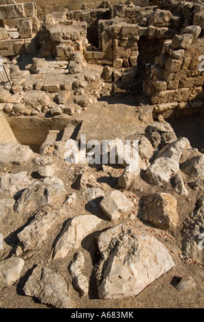
M146 170L149 183L164 186L174 173L179 171L179 163L169 158L157 158Z

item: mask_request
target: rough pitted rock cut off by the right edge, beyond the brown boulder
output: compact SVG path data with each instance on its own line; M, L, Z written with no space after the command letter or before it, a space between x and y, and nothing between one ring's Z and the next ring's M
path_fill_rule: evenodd
M204 196L202 195L184 222L182 249L194 260L204 264Z

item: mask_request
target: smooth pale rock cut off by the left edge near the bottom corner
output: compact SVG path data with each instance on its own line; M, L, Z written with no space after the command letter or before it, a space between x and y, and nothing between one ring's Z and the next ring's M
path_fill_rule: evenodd
M0 289L16 283L24 266L24 260L11 257L0 262Z

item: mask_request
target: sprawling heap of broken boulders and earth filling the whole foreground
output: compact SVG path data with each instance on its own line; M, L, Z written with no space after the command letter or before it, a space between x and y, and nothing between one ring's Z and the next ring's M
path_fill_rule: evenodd
M146 127L139 169L130 171L132 161L125 160L114 188L102 179L114 176L113 167L67 164L69 151L60 152L0 145L1 288L29 275L20 284L25 295L71 308L72 286L81 296L90 291L89 251L100 299L138 295L171 270L171 243L202 267L204 157L187 138L177 138L169 123ZM185 218L179 203L186 206ZM192 287L192 277L177 286Z

